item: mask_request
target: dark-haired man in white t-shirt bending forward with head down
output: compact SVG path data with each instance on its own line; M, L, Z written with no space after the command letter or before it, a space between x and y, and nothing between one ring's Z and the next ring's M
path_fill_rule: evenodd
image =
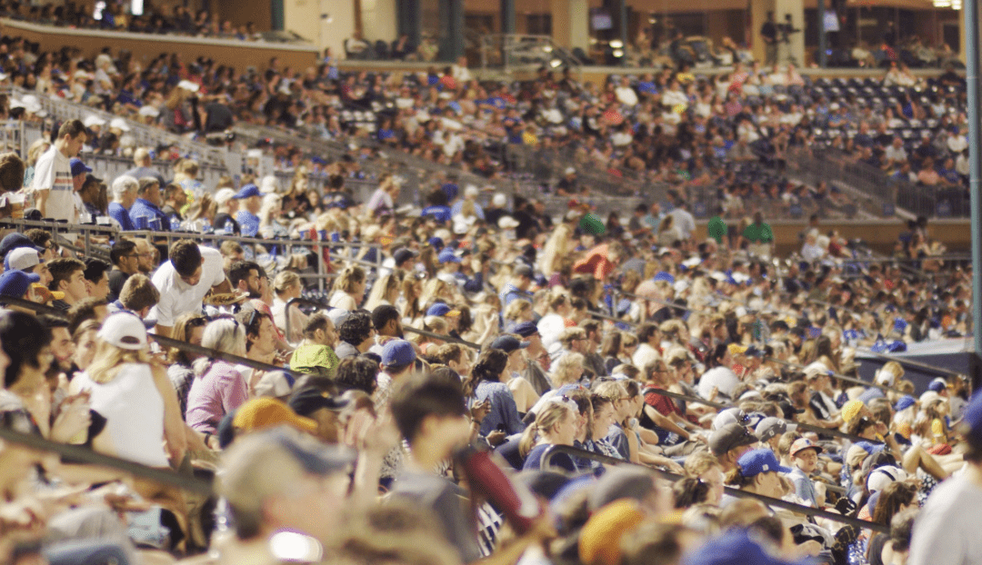
M179 239L171 245L171 260L153 274L153 285L160 300L150 311L157 321L156 333L170 337L174 321L188 312L199 312L208 291L232 291L232 284L222 269L222 254L217 249L199 247L191 239Z

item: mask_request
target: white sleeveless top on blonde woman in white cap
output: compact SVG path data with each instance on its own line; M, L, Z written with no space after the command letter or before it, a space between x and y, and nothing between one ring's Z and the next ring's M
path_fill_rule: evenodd
M106 419L116 455L149 467L169 467L164 452L164 399L153 382L150 366L127 363L109 383L95 383L85 373L83 390L91 393L89 406Z

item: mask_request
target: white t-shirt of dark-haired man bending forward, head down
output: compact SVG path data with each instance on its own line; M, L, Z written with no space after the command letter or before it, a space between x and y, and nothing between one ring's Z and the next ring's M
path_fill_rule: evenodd
M222 254L217 249L198 245L201 250L201 280L189 285L181 280L174 270L174 265L168 261L153 274L153 285L160 291L160 301L150 311L150 319L155 319L160 326L174 327L174 321L182 314L200 312L201 300L208 290L216 284L225 281L225 271L222 269Z

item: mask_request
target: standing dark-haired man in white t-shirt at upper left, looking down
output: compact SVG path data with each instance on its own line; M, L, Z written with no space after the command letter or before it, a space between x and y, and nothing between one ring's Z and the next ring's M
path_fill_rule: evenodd
M82 122L70 120L58 130L58 138L51 148L37 159L31 188L34 207L42 217L78 222L69 159L79 154L86 138Z

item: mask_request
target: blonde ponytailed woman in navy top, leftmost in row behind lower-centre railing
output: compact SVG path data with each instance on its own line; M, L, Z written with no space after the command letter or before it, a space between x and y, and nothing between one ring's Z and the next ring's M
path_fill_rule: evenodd
M542 456L553 445L573 445L578 413L572 400L554 398L546 402L535 416L535 423L525 429L518 441L518 453L524 459L522 471L541 469ZM551 464L570 473L577 471L573 458L565 453L553 456Z

